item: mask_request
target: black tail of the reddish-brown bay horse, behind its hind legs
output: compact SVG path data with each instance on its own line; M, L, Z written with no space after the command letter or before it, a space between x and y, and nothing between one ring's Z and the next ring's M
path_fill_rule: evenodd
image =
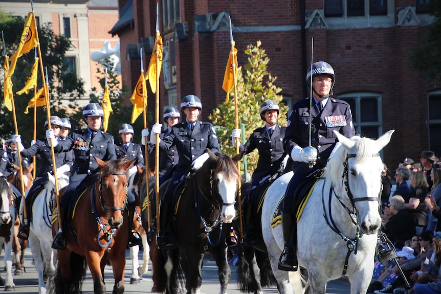
M54 277L54 293L81 293L81 286L86 276L86 259L84 256L71 252L70 277L63 279L61 276L60 263L57 265L57 272Z

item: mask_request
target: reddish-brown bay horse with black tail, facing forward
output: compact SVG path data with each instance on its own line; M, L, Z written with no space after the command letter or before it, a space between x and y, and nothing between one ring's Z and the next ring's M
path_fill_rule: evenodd
M76 201L71 220L63 224L67 249L58 250L55 293L80 293L89 266L94 293L104 294L104 266L112 263L115 279L113 294L124 292L125 248L128 238L127 171L134 161L97 161L101 172ZM63 192L63 191L60 191ZM61 194L61 193L60 193ZM65 212L67 213L67 211ZM58 222L52 224L52 233Z

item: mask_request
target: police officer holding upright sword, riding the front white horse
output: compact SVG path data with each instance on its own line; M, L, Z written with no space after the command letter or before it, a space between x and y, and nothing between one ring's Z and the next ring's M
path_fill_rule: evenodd
M312 84L311 84L312 75ZM282 208L282 227L285 247L280 256L279 269L296 271L298 269L296 247L296 218L293 211L293 196L297 187L316 171L324 168L332 150L337 144L334 130L350 138L355 134L349 105L329 97L335 83L334 69L324 61L312 64L306 74L306 84L312 87L313 101L310 97L297 101L286 127L283 146L294 161L294 175L286 190ZM311 145L309 145L309 124L311 117ZM315 163L313 165L313 163ZM312 168L310 168L312 166Z

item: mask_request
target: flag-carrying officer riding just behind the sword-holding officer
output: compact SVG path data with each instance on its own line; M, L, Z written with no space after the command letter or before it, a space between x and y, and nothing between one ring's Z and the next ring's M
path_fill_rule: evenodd
M255 214L257 202L257 187L266 179L279 173L280 168L284 168L288 160L283 150L283 137L286 127L277 124L279 117L279 105L272 100L268 100L260 105L260 118L265 122L265 126L253 131L245 145L239 146L239 151L246 151L246 154L254 149L259 151L257 167L253 172L250 189L248 191L247 206L245 208L245 244L253 246L257 242L253 214ZM240 129L234 129L232 133L233 147L236 148L236 138L240 138ZM286 157L286 158L285 158Z

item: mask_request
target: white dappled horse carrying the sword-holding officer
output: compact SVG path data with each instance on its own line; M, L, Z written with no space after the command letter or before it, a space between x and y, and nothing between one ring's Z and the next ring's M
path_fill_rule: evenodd
M263 203L263 239L282 294L292 293L293 287L296 294L324 294L326 283L342 276L348 276L351 293L361 294L366 293L372 277L381 225L378 209L383 164L378 152L389 143L393 130L377 141L358 136L347 139L335 133L341 146L329 160L297 223L297 257L308 273L304 287L300 271L278 269L284 245L282 228L271 228L292 174L279 177Z

